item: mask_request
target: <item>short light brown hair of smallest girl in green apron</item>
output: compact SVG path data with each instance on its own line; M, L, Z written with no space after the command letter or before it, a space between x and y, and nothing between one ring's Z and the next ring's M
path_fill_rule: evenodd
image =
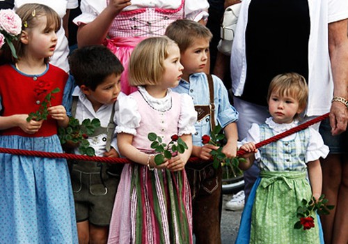
M308 99L308 86L306 79L297 73L284 73L277 75L269 84L267 101L271 93L279 96L290 96L299 102L299 109L305 109Z

